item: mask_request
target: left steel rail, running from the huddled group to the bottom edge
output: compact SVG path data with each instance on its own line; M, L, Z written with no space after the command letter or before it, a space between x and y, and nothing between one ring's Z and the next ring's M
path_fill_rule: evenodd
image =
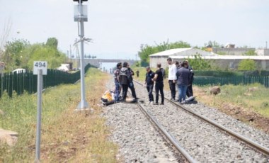
M128 90L129 93L130 90ZM181 154L183 155L183 157L185 157L185 159L188 160L188 162L190 163L196 163L197 161L195 159L193 159L193 157L190 156L190 154L188 154L187 151L184 150L183 147L181 147L181 145L178 145L178 142L176 142L175 138L170 135L165 129L164 127L153 117L151 116L151 114L147 111L146 108L144 108L144 106L142 106L141 103L137 103L139 108L140 108L140 111L142 111L142 113L144 113L144 115L149 119L149 121L151 121L151 123L153 122L154 125L159 129L161 130L161 133L163 133L166 138L171 142L171 144L176 147L176 150L178 150L178 152L181 152Z

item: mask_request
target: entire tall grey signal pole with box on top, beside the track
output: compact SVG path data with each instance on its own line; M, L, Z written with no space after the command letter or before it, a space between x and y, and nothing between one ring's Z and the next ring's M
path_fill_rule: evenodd
M81 53L80 53L80 77L81 77L81 101L77 106L77 109L85 109L88 108L88 103L85 98L85 81L84 81L84 21L88 21L87 16L87 6L82 5L83 1L88 0L73 0L79 2L79 5L75 6L75 16L74 21L78 22L78 30L79 30L79 42L81 42ZM77 42L78 43L78 42Z

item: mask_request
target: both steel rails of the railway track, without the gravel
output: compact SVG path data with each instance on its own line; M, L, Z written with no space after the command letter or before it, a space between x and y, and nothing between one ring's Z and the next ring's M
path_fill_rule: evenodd
M138 81L135 81L136 84L139 84L140 86L142 86L141 83L139 83ZM181 108L181 110L187 112L188 114L195 116L195 118L199 118L200 120L209 123L210 125L213 125L214 128L217 128L217 130L222 130L222 133L231 135L231 137L236 138L236 140L239 140L240 142L244 142L245 145L248 145L249 147L255 149L258 152L262 152L263 154L265 154L267 157L269 156L269 149L267 147L263 147L262 145L258 144L258 142L255 142L251 139L249 139L248 137L244 137L242 135L240 135L239 133L234 132L233 130L230 130L229 128L225 128L222 125L219 125L218 123L214 122L213 120L210 120L208 118L206 118L205 116L202 116L198 113L195 113L194 111L191 111L190 109L180 105L179 103L176 103L174 101L171 101L167 98L165 98L166 101L169 101L170 103L172 103L174 106L176 106L177 108ZM139 107L142 109L142 112L151 119L152 122L155 123L156 126L160 126L162 128L162 133L167 133L168 132L164 129L164 127L156 120L156 118L154 118L154 116L152 116L149 111L147 111L147 109L139 103ZM158 127L159 128L159 127ZM161 130L161 129L160 129ZM171 137L170 139L168 138L168 140L171 141L171 143L173 144L173 142L177 142L175 140L175 138L173 136L171 136L170 134L168 134L166 137ZM195 162L195 159L193 159L193 157L190 157L190 154L188 154L188 152L186 152L186 150L183 149L183 147L181 147L180 145L176 145L177 143L175 143L175 147L178 146L177 150L179 152L181 152L181 154L183 154L183 156L189 161L189 162ZM189 158L189 159L188 159Z

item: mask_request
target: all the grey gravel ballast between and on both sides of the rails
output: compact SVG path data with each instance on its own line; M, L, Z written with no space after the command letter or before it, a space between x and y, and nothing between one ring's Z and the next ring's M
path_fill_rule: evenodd
M113 89L110 80L108 89ZM186 113L165 101L164 106L147 104L147 89L135 84L137 97L164 128L175 137L198 162L269 162L268 157L253 150L243 142L227 135L199 118ZM169 92L165 93L169 98ZM154 96L155 97L155 96ZM160 99L159 99L160 100ZM200 113L235 132L250 137L268 147L269 135L221 113L202 103L188 104L185 107ZM104 108L103 117L111 128L110 139L119 145L118 158L122 162L183 162L180 154L164 140L135 103L115 103Z

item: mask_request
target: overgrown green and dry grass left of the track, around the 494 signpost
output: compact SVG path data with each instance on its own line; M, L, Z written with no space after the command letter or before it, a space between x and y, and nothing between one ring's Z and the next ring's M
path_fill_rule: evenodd
M94 113L74 113L80 84L46 89L42 101L42 162L116 162L117 147L108 142L105 120L98 116L99 99L109 76L91 68L86 74L86 99ZM14 147L0 146L0 162L33 162L36 95L0 99L0 128L18 132Z

